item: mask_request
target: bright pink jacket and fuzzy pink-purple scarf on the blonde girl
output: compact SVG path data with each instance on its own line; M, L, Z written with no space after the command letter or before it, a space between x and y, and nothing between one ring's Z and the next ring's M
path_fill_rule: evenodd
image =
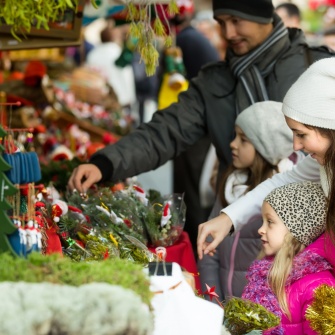
M331 272L332 265L325 260L324 244L324 239L319 238L294 259L286 286L291 320L281 312L278 300L267 281L273 258L256 260L251 265L247 273L248 284L242 297L263 305L281 318L279 327L265 331L264 334L317 334L310 328L309 322L305 318L306 309L313 302L314 290L317 287L322 284L335 287L335 278ZM335 247L332 248L335 250ZM333 263L335 262L333 261Z

